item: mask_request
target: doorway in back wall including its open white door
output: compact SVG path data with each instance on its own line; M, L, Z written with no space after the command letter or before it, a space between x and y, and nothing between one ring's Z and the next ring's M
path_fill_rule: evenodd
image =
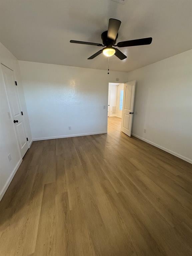
M118 131L131 136L136 81L109 83L108 132Z

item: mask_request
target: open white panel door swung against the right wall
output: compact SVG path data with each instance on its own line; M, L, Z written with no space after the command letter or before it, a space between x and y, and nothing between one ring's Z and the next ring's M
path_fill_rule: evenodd
M136 81L131 81L124 84L123 92L123 109L122 109L122 121L121 131L131 137L131 126L133 118L133 104L135 95Z

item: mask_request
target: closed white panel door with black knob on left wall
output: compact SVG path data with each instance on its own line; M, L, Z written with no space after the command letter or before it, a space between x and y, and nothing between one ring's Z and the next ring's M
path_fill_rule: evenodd
M23 157L27 152L27 138L25 134L25 128L23 123L23 116L21 115L21 106L19 101L19 95L17 86L15 84L14 73L11 69L5 67L1 64L3 71L3 77L5 81L7 96L9 99L9 105L11 109L11 116L15 126L17 140L19 143L19 148L21 151L21 156Z

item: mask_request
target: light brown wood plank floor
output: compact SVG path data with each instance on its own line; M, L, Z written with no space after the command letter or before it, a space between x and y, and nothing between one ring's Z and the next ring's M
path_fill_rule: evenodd
M32 143L0 202L1 256L192 255L192 165L120 121Z

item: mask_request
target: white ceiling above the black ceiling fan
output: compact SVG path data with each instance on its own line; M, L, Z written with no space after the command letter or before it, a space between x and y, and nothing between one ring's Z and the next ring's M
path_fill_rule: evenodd
M122 21L119 41L153 37L151 45L119 48L110 70L131 71L192 48L192 0L0 0L0 41L19 60L107 69L102 43L109 18Z

